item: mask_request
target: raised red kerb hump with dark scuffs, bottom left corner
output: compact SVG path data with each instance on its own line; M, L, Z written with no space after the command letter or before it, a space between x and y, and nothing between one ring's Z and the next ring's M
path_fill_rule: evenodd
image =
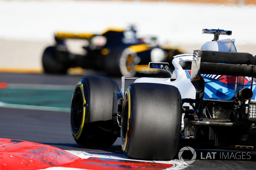
M59 148L23 140L0 139L0 169L44 169L81 158Z

